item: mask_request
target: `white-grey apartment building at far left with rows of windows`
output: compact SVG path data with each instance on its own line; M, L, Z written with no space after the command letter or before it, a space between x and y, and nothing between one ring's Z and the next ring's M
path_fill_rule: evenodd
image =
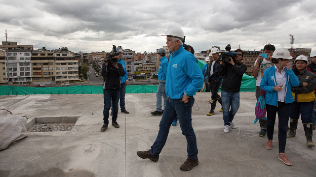
M8 50L6 69L9 71L9 81L14 85L24 85L32 82L31 51L23 49ZM7 73L5 74L7 77Z

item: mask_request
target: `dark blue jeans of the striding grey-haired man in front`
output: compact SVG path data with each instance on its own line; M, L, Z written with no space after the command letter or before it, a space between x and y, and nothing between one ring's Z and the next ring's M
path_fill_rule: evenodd
M150 149L152 155L158 155L164 147L172 121L178 116L182 134L187 139L188 158L197 159L197 138L192 127L193 96L189 102L184 103L181 99L167 98L163 115L159 123L159 131L155 143Z

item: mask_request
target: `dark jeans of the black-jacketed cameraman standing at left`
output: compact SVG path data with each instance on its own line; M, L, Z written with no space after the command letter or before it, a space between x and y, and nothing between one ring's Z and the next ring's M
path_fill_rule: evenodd
M103 89L103 99L104 99L104 108L103 108L103 124L109 124L109 110L111 108L111 101L113 102L113 116L112 122L117 121L118 118L118 100L120 95L120 89Z

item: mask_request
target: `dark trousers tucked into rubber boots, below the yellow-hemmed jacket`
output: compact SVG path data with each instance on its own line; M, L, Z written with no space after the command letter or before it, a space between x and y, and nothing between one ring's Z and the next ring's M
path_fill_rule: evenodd
M300 118L301 113L301 119L302 123L312 123L312 114L313 114L313 107L314 101L311 102L296 102L294 101L291 104L291 116L290 118L294 120L298 120Z

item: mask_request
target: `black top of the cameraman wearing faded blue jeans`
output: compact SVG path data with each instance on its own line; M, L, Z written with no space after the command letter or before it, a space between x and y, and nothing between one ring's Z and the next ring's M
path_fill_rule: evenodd
M227 92L239 92L243 73L247 71L247 66L242 62L224 63L218 66L218 73L223 77L222 90Z

